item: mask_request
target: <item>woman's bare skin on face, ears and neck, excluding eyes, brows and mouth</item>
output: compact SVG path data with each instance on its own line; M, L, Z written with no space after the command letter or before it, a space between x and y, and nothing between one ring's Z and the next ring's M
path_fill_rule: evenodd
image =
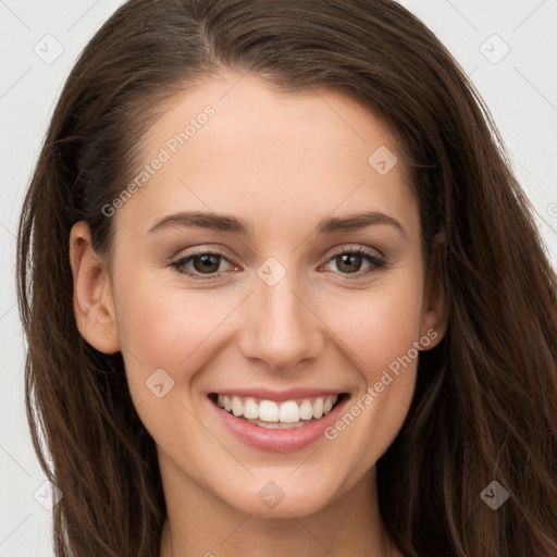
M406 418L416 359L334 441L292 453L245 445L210 407L209 393L249 385L331 388L350 406L412 343L434 330L431 349L446 327L407 169L398 161L380 175L368 162L380 146L397 153L380 120L339 92L285 95L256 76L238 79L224 73L176 97L145 134L148 163L183 122L215 109L112 216L110 261L91 249L86 223L73 227L79 332L100 351L122 351L157 443L168 506L161 557L399 555L379 515L375 463ZM148 232L185 210L242 218L251 232ZM388 224L315 234L320 219L363 210L396 219L405 234ZM220 278L170 267L195 247L223 252ZM333 255L357 247L379 250L388 267L362 258L350 274ZM274 286L257 274L269 257L286 271ZM162 398L146 387L158 369L174 381ZM285 494L273 509L258 497L270 481Z

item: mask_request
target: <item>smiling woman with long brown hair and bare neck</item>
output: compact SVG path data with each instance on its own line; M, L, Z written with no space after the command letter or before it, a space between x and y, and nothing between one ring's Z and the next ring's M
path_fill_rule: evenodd
M128 1L18 270L57 555L557 555L555 272L395 2Z

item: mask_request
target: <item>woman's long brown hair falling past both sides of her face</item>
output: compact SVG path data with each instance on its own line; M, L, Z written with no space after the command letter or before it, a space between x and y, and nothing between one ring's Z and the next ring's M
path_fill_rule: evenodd
M358 99L397 135L410 168L449 323L421 355L407 420L377 462L394 543L405 556L557 555L555 271L487 109L436 37L391 0L131 0L84 50L18 234L27 416L64 494L57 555L159 555L154 442L121 355L77 332L69 235L85 220L110 253L102 207L133 176L140 138L164 100L222 69ZM497 510L480 496L492 481L509 493Z

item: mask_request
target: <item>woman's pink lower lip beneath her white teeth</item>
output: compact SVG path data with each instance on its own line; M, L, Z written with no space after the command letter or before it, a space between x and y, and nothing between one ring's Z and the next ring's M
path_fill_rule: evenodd
M306 448L323 437L323 432L337 420L348 398L341 400L326 416L318 421L289 430L269 430L260 425L253 425L240 418L235 418L212 400L209 400L209 403L224 425L246 445L261 450L286 453Z

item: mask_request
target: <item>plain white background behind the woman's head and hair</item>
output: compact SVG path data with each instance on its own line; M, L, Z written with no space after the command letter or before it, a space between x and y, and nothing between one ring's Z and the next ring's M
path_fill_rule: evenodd
M50 511L34 498L37 490L45 494L45 478L33 451L23 403L24 341L14 290L22 199L70 69L122 3L0 0L0 557L53 555ZM401 3L435 32L487 102L515 172L536 208L555 263L557 1ZM44 61L36 53L54 55L58 44L63 51L54 61ZM507 48L508 54L493 63Z

